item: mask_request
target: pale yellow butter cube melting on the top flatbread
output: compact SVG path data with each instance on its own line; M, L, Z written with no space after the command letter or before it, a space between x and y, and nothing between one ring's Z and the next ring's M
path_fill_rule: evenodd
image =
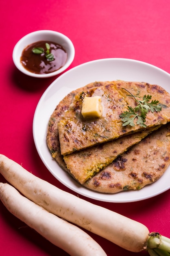
M95 118L102 116L101 97L85 97L82 103L81 114L84 118Z

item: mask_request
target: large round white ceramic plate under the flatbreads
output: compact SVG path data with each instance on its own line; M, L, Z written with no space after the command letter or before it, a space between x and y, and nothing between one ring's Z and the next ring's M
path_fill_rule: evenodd
M158 84L170 92L170 74L141 61L124 58L107 58L91 61L72 68L57 78L42 95L35 110L33 137L35 146L48 170L62 184L88 198L105 202L135 202L154 197L170 189L170 167L155 183L139 191L122 191L116 194L98 193L79 185L52 159L46 145L46 132L50 115L63 97L72 90L94 81L139 81Z

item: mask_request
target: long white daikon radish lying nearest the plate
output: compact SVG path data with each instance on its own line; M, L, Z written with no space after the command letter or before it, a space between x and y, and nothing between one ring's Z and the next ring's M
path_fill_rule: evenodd
M149 234L148 228L142 223L62 191L4 155L0 155L0 173L44 209L131 252L148 250L150 238L153 241L155 236L157 238L158 234ZM159 235L159 238L162 236Z

